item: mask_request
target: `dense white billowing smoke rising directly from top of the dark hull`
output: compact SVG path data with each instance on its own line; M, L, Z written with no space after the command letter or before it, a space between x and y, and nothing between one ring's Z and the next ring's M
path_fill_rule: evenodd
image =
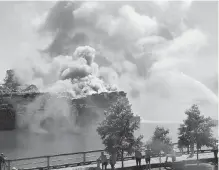
M42 68L33 66L29 78L23 76L26 68L17 68L16 72L25 84L40 80L36 85L41 92L68 93L72 98L117 90L99 78L99 66L93 61L95 53L89 46L80 46L72 56L57 56L45 61Z

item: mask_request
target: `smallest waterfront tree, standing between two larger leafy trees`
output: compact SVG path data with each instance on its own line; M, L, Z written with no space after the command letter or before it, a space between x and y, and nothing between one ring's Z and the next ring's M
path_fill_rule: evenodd
M160 156L161 163L161 153L168 153L172 148L172 142L169 135L169 129L164 129L163 127L156 127L154 134L149 142L149 147L152 152Z

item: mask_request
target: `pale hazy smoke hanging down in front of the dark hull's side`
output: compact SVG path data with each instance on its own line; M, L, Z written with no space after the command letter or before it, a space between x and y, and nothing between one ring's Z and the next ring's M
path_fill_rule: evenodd
M17 126L36 133L77 132L76 113L66 98L41 95L18 111Z

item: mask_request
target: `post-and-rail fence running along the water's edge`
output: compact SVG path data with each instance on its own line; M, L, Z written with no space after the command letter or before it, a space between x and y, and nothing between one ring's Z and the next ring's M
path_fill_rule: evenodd
M5 170L11 170L12 167L16 167L20 170L49 170L49 169L59 169L66 167L75 167L82 165L90 165L96 163L99 158L100 153L104 150L94 150L87 152L77 152L77 153L66 153L57 155L46 155L39 157L29 157L29 158L19 158L19 159L8 159L6 160ZM210 153L212 150L201 150L200 153ZM178 156L180 152L176 153ZM165 154L160 155L161 157ZM109 155L107 155L109 158ZM153 158L159 157L158 155L153 155ZM124 156L124 161L134 160L134 156ZM119 158L118 161L121 161Z

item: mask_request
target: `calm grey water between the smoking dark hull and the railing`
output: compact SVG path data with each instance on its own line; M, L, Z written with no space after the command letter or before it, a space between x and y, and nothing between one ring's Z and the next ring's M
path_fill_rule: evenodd
M93 131L83 134L34 134L24 131L0 132L0 152L8 158L22 158L102 149Z

